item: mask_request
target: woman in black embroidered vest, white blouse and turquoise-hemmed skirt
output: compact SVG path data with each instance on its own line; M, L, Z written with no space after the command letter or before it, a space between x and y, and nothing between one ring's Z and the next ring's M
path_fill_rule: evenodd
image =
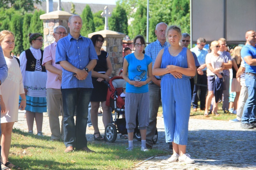
M33 134L34 119L37 125L37 135L43 136L43 112L46 108L46 69L42 66L43 35L29 34L31 47L20 54L20 70L22 72L24 90L26 95L26 119L28 132ZM21 100L20 100L21 101Z

